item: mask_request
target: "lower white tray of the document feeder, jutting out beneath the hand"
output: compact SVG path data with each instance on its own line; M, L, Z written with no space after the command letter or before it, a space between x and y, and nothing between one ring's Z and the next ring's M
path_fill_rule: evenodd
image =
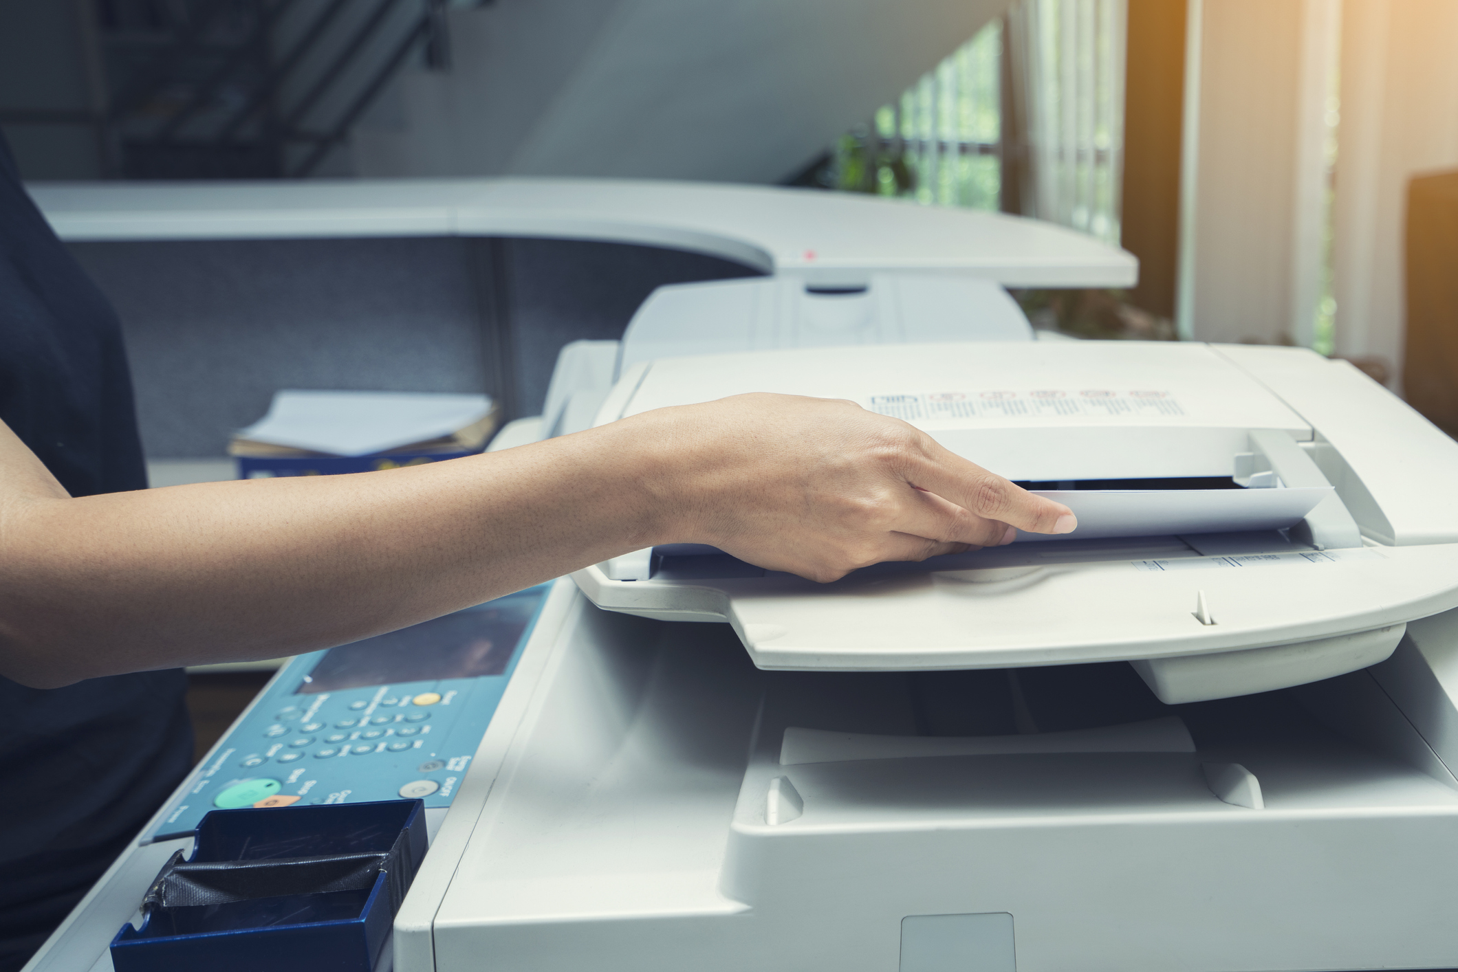
M1217 549L1219 539L1210 538L1209 548ZM1446 546L1322 552L1277 539L1260 552L1223 555L1172 536L1015 544L881 564L830 584L755 568L746 573L760 576L625 581L593 565L573 579L607 611L728 621L763 669L1130 660L1146 663L1136 667L1165 701L1268 691L1366 667L1391 654L1404 622L1458 606L1458 561ZM1197 616L1201 595L1212 624ZM1220 665L1182 660L1216 653ZM1177 669L1178 676L1159 678Z

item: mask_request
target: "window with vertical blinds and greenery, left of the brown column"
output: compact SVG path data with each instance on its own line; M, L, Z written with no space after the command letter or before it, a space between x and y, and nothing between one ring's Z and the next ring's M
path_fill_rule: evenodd
M1124 0L1021 0L846 133L812 181L1117 245L1124 17Z

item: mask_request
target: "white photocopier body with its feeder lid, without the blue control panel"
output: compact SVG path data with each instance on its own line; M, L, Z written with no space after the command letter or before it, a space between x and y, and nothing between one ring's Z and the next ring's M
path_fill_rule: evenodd
M1458 444L1198 344L659 358L599 423L746 391L905 418L1094 536L558 581L397 968L1458 966Z

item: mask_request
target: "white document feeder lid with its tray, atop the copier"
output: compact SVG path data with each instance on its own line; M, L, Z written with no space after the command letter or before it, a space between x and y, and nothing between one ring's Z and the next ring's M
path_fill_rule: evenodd
M1394 536L1454 516L1433 510L1433 485L1458 477L1458 449L1314 354L1019 342L669 358L625 375L602 417L738 391L856 399L1080 514L1067 539L1022 538L828 587L709 548L643 551L577 573L609 611L729 621L763 669L1131 660L1162 701L1188 702L1368 667L1392 653L1404 622L1458 603L1458 557L1442 542L1458 541L1458 517L1452 536ZM1381 440L1353 455L1349 440L1375 423ZM1373 449L1379 479L1352 465ZM1171 485L1197 488L1159 488ZM1373 488L1384 490L1378 503ZM1280 503L1286 494L1295 506Z

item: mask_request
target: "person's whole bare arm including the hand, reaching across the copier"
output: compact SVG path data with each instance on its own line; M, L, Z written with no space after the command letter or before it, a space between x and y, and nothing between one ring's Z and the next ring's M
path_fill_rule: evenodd
M665 542L833 580L1060 516L905 423L780 395L389 472L82 498L0 426L0 673L308 651Z

